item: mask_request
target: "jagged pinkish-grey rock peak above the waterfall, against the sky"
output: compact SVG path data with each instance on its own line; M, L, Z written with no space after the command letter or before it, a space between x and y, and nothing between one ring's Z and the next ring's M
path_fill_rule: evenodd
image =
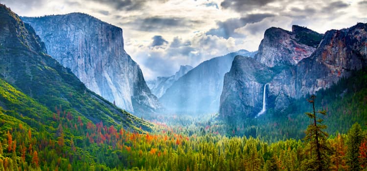
M292 32L271 27L265 31L255 59L269 67L295 65L315 51L321 38L321 34L297 25Z

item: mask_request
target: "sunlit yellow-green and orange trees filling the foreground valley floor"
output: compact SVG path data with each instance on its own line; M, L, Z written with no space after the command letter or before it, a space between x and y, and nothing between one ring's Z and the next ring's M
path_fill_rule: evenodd
M307 171L320 170L315 164L319 153L323 171L364 170L367 164L366 131L359 124L346 134L328 136L326 126L318 123L308 126L303 140L266 143L208 130L187 136L184 129L164 126L155 133L130 132L85 123L63 112L57 112L54 120L59 126L52 134L35 132L2 112L0 118L1 171Z

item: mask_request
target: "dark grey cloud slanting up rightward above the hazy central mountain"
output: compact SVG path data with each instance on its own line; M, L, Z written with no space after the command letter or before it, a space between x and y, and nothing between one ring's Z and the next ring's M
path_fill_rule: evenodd
M264 20L265 18L274 16L274 14L250 14L240 19L228 19L223 22L219 21L217 22L218 28L210 29L208 32L206 32L206 35L215 35L218 37L223 37L225 39L228 39L229 37L244 37L244 35L235 33L234 30L243 27L248 23L259 22Z

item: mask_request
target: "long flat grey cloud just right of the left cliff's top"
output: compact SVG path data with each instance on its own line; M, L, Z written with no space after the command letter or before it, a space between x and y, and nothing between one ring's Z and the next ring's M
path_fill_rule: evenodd
M162 31L171 28L187 28L201 23L201 21L189 20L185 18L161 18L148 17L136 18L133 21L121 23L121 25L131 25L140 31Z

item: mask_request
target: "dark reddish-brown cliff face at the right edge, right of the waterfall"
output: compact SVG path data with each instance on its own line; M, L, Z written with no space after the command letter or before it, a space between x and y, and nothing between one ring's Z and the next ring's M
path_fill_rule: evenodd
M296 67L296 98L329 87L367 65L367 24L327 31L320 46Z

